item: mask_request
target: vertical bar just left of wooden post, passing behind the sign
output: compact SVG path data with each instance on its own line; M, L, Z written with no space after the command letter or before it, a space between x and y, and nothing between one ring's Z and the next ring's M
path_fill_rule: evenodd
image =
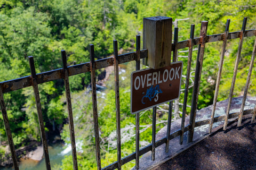
M140 35L136 36L136 70L140 70ZM140 168L140 113L136 113L136 164L135 168Z

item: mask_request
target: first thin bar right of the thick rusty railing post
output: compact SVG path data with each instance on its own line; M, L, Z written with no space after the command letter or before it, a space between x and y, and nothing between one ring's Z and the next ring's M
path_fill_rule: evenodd
M211 115L211 120L210 120L209 133L212 132L213 119L214 119L214 114L215 114L215 109L216 109L216 104L217 104L217 99L218 99L218 94L219 94L222 66L223 66L223 61L224 61L224 56L225 56L225 51L226 51L226 45L227 45L227 39L228 39L229 24L230 24L230 19L227 19L226 29L225 29L225 32L224 32L224 35L223 35L224 39L223 39L221 55L220 55L219 71L218 71L218 76L217 76L217 81L216 81L216 86L215 86L215 92L214 92L214 98L213 98L213 108L212 108L212 115Z

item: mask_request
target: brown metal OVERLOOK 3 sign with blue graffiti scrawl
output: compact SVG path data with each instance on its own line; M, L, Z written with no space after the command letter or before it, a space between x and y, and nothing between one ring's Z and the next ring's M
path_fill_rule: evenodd
M131 74L131 113L144 111L180 97L183 62L161 69L145 69Z

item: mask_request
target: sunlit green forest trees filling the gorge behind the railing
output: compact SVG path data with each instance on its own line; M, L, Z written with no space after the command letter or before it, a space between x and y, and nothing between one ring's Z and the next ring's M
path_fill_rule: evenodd
M189 39L190 25L195 24L195 37L198 37L201 21L209 21L207 35L223 33L227 19L231 19L229 32L242 28L243 18L248 18L246 29L256 25L256 1L203 1L203 0L0 0L0 82L30 75L28 56L34 56L36 72L46 72L62 67L60 51L66 50L68 66L89 62L89 44L94 44L96 59L113 54L113 40L118 40L118 47L124 52L134 51L135 36L143 31L142 20L150 16L169 16L173 27L179 27L178 40ZM142 38L141 38L142 39ZM245 38L241 64L239 64L236 96L241 95L247 77L254 38ZM220 96L226 99L229 94L230 80L233 74L238 41L228 41L225 63L222 73ZM196 47L195 47L196 48ZM202 72L201 96L198 109L211 105L214 95L215 80L218 72L221 42L213 43L205 49ZM185 56L186 52L179 53ZM196 52L193 53L193 60ZM187 58L179 58L187 62ZM135 66L125 65L126 80L121 82L122 127L133 127L134 116L130 114L130 72ZM195 61L193 62L195 68ZM102 70L101 70L102 71ZM97 71L97 75L101 72ZM252 73L251 90L256 94L256 74ZM112 78L111 78L112 76ZM113 80L113 75L110 80ZM70 77L73 96L76 138L83 142L78 154L81 169L95 168L92 104L90 95L83 95L90 84L90 74ZM210 80L213 80L209 83ZM109 81L110 81L109 80ZM114 144L110 135L115 131L115 95L113 84L106 83L106 96L99 100L99 123L102 134L102 161L108 165L115 161ZM239 90L240 89L240 90ZM65 103L63 80L56 80L39 85L45 129L50 136L52 131L60 134L69 143L69 130ZM190 89L192 92L192 89ZM106 97L106 101L103 98ZM182 98L181 94L181 98ZM4 95L10 126L16 148L26 146L31 141L40 141L38 118L33 95L33 88L21 89ZM191 98L189 99L191 101ZM128 104L127 104L128 103ZM164 109L164 108L163 108ZM181 109L181 107L179 108ZM189 108L187 109L189 114ZM150 124L151 112L141 114L141 125ZM160 114L163 120L166 114ZM149 119L149 120L148 120ZM129 126L130 125L130 126ZM164 124L159 124L158 129ZM134 130L134 127L133 127ZM142 134L145 143L150 142L151 127ZM62 132L62 133L61 133ZM127 130L127 134L132 133ZM122 156L133 152L134 137L125 141ZM3 117L0 116L0 156L4 152L2 143L7 141ZM130 147L130 149L129 149ZM92 153L88 155L86 153ZM0 159L1 160L1 159ZM69 157L63 160L61 169L72 169ZM127 165L129 168L131 165ZM57 168L57 167L56 167Z

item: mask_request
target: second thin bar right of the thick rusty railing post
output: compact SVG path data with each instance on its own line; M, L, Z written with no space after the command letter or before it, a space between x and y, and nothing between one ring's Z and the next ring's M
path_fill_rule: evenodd
M241 31L241 34L240 34L240 41L239 41L238 52L237 52L237 56L236 56L236 63L235 63L235 67L234 67L233 78L232 78L232 82L231 82L231 88L230 88L229 97L228 97L228 107L227 107L225 122L224 122L224 125L223 125L223 130L227 129L228 114L229 114L229 111L230 111L233 92L234 92L234 88L235 88L236 74L237 74L239 60L240 60L240 57L241 57L241 51L242 51L242 46L243 46L244 31L245 31L245 27L246 27L246 22L247 22L247 18L245 17L244 21L243 21L242 31Z

